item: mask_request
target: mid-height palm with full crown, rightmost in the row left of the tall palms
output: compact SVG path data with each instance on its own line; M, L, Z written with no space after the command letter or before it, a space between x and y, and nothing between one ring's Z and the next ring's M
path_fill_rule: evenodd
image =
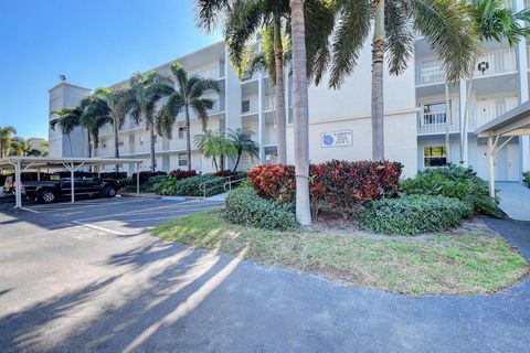
M171 138L172 129L177 116L184 111L186 117L186 150L188 154L188 170L191 170L191 122L190 108L195 113L202 124L202 131L206 131L208 127L208 110L213 108L215 101L210 98L201 98L202 95L213 89L219 93L219 84L216 81L202 78L198 75L191 77L182 67L180 63L171 65L171 73L177 83L177 88L173 89L167 104L159 114L159 133L166 133Z

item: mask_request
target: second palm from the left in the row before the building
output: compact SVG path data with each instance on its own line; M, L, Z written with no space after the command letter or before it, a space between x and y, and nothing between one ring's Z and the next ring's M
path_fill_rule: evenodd
M106 99L92 95L81 101L80 109L83 111L80 125L87 131L88 157L92 157L93 147L95 151L99 143L99 130L113 121L110 108Z

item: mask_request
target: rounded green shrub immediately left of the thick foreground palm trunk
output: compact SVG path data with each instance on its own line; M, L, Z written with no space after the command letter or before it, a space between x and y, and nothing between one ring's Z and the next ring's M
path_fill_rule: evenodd
M226 218L235 224L265 229L297 227L292 204L277 204L259 197L252 189L235 189L226 197Z

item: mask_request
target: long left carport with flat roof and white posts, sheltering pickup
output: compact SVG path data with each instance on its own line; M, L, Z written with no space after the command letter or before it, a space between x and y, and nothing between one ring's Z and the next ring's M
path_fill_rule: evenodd
M15 179L15 208L22 207L22 193L20 190L21 173L24 171L36 171L38 180L40 180L41 170L44 169L66 169L71 173L72 202L75 202L75 182L74 172L81 168L97 169L97 173L103 165L115 164L135 164L136 170L136 192L140 192L140 173L139 168L144 162L141 159L125 159L125 158L50 158L50 157L7 157L0 159L0 170L13 170Z

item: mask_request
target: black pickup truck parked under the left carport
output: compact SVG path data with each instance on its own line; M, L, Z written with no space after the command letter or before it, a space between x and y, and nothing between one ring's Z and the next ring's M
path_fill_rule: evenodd
M99 179L92 173L74 173L74 194L89 196L114 197L120 184L114 179ZM22 179L22 194L29 200L52 203L59 199L72 195L70 172L50 174L49 180L24 181Z

